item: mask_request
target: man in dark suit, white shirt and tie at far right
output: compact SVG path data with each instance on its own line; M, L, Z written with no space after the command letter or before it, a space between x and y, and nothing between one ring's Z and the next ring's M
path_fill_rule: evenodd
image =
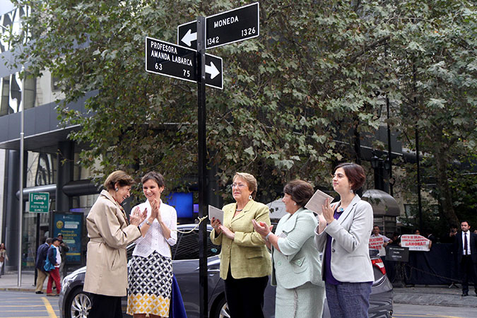
M462 296L469 295L469 277L473 278L473 285L477 296L477 235L470 231L471 225L467 221L461 222L461 232L457 233L454 247L457 254L457 264L462 276Z

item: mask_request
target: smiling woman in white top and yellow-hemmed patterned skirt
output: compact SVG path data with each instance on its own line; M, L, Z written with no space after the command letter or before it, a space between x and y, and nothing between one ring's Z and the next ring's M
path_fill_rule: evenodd
M148 172L141 179L146 202L133 210L146 210L148 217L141 225L150 228L136 241L129 266L127 313L134 318L169 317L172 286L172 259L170 246L177 242L177 213L164 204L160 194L164 191L164 177ZM151 218L151 203L158 202L157 218Z

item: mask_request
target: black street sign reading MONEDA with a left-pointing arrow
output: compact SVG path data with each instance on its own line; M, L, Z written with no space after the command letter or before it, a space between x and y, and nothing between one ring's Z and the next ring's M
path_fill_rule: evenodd
M206 17L206 49L259 35L258 2ZM197 49L196 21L177 26L177 44Z

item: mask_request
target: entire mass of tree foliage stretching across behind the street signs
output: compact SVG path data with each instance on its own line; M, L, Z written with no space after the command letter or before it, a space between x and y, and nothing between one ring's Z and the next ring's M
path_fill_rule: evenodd
M171 188L194 179L196 86L146 73L144 37L175 42L177 25L249 2L23 3L30 42L17 61L61 81L59 116L82 127L71 136L86 144L81 162L99 159L98 174L158 170ZM441 158L475 153L475 35L471 1L260 1L260 36L210 52L224 64L224 90L207 90L208 163L219 186L247 171L263 199L295 177L327 187L331 165L355 158L354 133L383 124L385 97L391 127L411 144L418 127L442 174ZM92 90L88 116L65 106ZM440 182L444 196L444 175Z

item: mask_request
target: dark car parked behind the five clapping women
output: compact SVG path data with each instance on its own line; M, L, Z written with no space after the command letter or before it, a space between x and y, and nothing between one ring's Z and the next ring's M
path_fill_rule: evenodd
M187 317L199 317L199 230L194 229L195 224L179 225L181 232L177 233L177 244L172 249L172 267L177 283L182 293L182 300L187 312ZM194 229L194 230L193 230ZM189 232L191 231L192 232ZM211 226L207 228L211 232ZM128 247L128 259L131 257L134 244ZM230 317L223 282L219 277L220 246L207 241L208 257L208 312L209 317ZM374 264L375 282L372 284L370 297L370 317L391 317L392 314L392 285L387 279L382 261L376 250L370 250ZM83 292L86 267L66 276L61 285L59 295L59 311L61 318L86 318L91 307L88 293ZM126 297L123 302L124 317L131 317L126 312ZM275 288L269 285L265 290L264 302L265 317L275 317ZM326 307L323 317L330 317Z

